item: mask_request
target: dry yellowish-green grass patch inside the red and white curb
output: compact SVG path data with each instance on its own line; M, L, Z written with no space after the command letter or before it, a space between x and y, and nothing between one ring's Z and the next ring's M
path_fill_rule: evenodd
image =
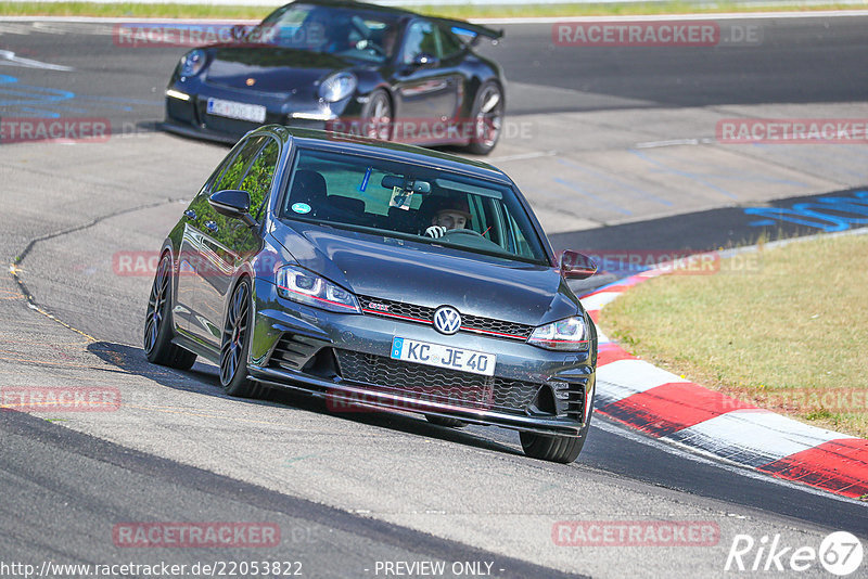
M601 327L693 382L868 436L868 235L767 248L752 272L720 266L630 290Z

